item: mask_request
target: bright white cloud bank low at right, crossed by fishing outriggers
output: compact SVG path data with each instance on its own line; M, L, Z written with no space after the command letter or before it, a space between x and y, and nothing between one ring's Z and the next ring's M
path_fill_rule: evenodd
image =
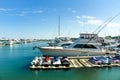
M76 16L77 18L77 23L79 25L92 25L92 26L100 26L102 25L105 21L101 20L101 19L97 19L96 17L93 16ZM120 23L115 23L115 22L106 22L104 23L102 26L106 26L106 27L114 27L114 28L120 28Z

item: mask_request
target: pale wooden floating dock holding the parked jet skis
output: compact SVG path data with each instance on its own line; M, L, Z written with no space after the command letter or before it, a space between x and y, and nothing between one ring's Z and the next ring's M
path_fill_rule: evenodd
M70 68L84 68L84 67L112 67L112 66L120 66L120 63L112 63L112 64L93 64L88 61L88 58L69 58L70 65L66 66L30 66L30 69L70 69Z

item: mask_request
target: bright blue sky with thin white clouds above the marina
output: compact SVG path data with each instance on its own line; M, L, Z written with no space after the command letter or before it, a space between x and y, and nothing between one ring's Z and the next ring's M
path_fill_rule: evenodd
M0 38L50 39L92 33L120 12L120 0L0 0ZM120 35L120 15L99 36Z

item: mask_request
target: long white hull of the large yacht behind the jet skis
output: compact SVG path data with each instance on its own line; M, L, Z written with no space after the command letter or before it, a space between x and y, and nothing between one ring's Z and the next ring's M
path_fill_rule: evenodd
M87 56L105 54L105 52L96 49L75 49L62 47L41 47L39 49L44 56Z

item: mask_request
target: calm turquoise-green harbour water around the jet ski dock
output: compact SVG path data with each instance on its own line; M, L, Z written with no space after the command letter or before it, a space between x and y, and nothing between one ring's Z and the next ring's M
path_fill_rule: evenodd
M120 80L120 67L79 68L70 70L30 70L35 56L33 46L45 42L0 47L0 80Z

